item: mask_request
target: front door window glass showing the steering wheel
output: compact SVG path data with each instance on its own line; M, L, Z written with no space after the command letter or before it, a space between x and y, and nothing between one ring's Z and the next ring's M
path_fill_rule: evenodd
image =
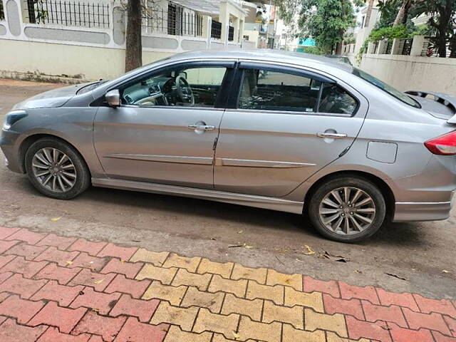
M214 108L227 68L167 69L129 84L122 91L128 105Z

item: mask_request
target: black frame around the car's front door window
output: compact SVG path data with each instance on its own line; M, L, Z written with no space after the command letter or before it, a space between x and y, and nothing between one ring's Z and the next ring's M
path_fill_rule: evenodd
M190 68L226 68L227 71L224 74L224 78L222 80L222 84L220 85L219 92L217 93L217 97L215 99L214 107L198 107L198 106L170 106L170 105L128 105L125 103L120 104L120 108L122 107L136 107L136 108L183 108L183 109L192 109L197 108L199 110L211 110L211 109L222 109L224 110L227 107L227 101L229 97L230 91L224 91L224 89L231 90L232 89L232 82L234 78L235 68L237 66L237 62L230 60L230 61L179 61L171 64L167 64L165 66L160 66L158 68L154 68L150 71L146 71L140 73L138 75L129 78L128 80L122 81L120 83L111 86L107 90L105 90L104 94L101 95L99 98L94 100L90 103L91 107L110 107L105 100L105 94L108 93L110 90L118 89L120 92L120 96L122 97L122 90L128 88L129 86L133 86L135 83L138 83L144 79L153 77L155 75L160 75L160 73L165 73L167 71L175 70L179 68L181 70L190 69Z

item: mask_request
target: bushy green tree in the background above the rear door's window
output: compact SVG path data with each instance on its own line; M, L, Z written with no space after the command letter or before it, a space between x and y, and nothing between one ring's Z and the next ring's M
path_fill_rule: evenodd
M351 0L279 0L277 4L281 19L289 24L297 16L299 36L314 38L323 53L333 53L354 23Z

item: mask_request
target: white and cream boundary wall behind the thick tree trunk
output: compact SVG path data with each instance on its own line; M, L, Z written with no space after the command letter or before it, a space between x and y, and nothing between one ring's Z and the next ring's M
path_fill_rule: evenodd
M0 21L0 76L21 77L21 73L28 73L36 78L44 75L93 80L124 73L126 19L118 0L110 3L109 28L28 24L23 19L24 0L0 1L5 11L5 20ZM210 38L211 20L203 16L203 37L143 33L142 62L184 51L252 48Z

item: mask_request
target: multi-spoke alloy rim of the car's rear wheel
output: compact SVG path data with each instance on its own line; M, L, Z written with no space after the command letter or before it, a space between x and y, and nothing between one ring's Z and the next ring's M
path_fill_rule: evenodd
M375 203L357 187L340 187L323 197L318 208L321 223L337 234L358 234L371 227Z

